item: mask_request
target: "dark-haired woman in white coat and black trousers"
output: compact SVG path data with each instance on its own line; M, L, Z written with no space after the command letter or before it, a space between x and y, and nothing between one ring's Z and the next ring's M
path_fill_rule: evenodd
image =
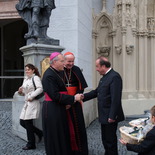
M36 149L35 134L39 138L39 142L42 139L43 133L40 129L33 125L33 120L39 117L40 102L35 97L43 92L42 83L38 69L32 65L27 64L25 66L26 77L22 86L18 89L18 93L25 95L25 104L20 114L20 125L26 129L27 144L23 147L23 150ZM32 78L36 85L34 88Z

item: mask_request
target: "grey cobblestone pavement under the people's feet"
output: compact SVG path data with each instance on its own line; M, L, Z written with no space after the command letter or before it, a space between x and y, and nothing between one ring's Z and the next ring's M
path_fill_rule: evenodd
M0 102L0 155L45 155L44 144L37 146L36 150L23 151L21 148L26 142L12 134L11 102ZM119 126L127 125L124 121ZM87 128L89 155L104 155L104 149L100 139L100 125L96 119ZM119 137L119 132L118 132ZM135 155L126 151L126 148L118 143L119 155Z

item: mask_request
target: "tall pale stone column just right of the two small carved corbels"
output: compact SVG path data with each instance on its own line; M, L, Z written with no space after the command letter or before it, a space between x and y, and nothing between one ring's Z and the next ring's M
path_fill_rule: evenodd
M139 18L138 18L138 98L148 97L147 90L147 1L139 2ZM143 62L143 63L142 63Z

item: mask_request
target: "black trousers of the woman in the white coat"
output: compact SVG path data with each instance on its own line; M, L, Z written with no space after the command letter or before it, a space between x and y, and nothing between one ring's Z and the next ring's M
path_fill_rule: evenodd
M41 136L42 131L33 125L33 119L30 120L20 119L20 125L26 129L28 140L27 146L28 147L35 146L35 134L37 136Z

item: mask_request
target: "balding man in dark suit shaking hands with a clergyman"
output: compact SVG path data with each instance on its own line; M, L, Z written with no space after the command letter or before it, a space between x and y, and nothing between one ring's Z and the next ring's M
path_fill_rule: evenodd
M117 125L124 120L122 109L122 78L103 56L96 60L96 70L103 77L95 90L84 94L84 101L98 99L99 122L105 155L118 155Z

